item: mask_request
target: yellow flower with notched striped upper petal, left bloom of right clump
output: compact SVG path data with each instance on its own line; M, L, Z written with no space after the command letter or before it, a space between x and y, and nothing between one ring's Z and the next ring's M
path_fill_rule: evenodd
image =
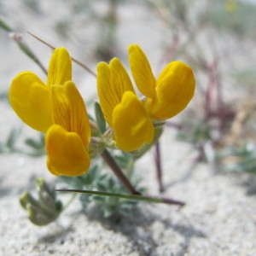
M102 113L120 149L131 152L152 143L154 126L119 59L97 65L97 90Z

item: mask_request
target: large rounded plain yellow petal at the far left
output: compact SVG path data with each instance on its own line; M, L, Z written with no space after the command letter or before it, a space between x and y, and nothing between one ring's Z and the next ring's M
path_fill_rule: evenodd
M12 81L9 102L26 125L46 132L52 125L49 89L32 72L22 72Z

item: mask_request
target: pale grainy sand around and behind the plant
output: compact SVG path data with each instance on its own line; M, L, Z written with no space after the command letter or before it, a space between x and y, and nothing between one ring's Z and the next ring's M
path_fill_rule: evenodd
M90 52L94 49L97 37L90 35L96 31L90 26L82 30L84 45L79 30L72 32L72 35L80 35L78 41L72 38L63 43L55 35L53 24L67 10L61 9L61 1L51 3L54 8L49 9L49 2L44 2L44 10L49 10L49 14L38 19L37 15L27 9L21 9L19 1L14 1L16 5L5 6L2 11L11 25L20 32L34 32L55 46L64 44L74 57L80 57L80 61L89 63L94 69L96 61ZM17 12L17 9L20 11ZM168 43L169 32L154 13L150 14L151 19L148 19L148 15L147 9L137 5L119 8L118 52L125 61L127 46L131 43L140 44L153 67L159 71L162 67L161 47ZM209 42L206 39L207 32L200 35L203 43ZM25 38L38 52L40 59L47 63L49 49L27 35ZM224 53L221 59L224 69L242 66L247 62L244 50L252 49L253 42L239 42L225 35L222 40L216 38L218 49ZM11 79L20 71L31 70L44 78L39 68L20 52L4 32L0 32L0 45L1 94L8 91ZM204 50L209 51L209 44L204 45ZM250 52L250 63L253 60L255 63L255 50ZM73 77L85 100L95 95L94 78L76 66ZM228 90L224 88L225 93ZM1 142L15 126L22 128L20 147L23 145L23 137L37 137L35 131L21 124L8 101L1 99L0 109ZM166 129L161 138L161 147L166 184L164 195L186 201L186 207L181 211L177 212L177 207L143 203L130 217L102 219L94 208L84 214L79 202L76 202L56 223L42 228L27 220L26 212L20 207L19 197L24 190L32 189L36 177L45 177L47 181L55 179L46 169L45 157L0 154L0 254L255 255L256 201L255 195L247 194L248 177L224 173L213 175L207 164L192 167L195 150L186 143L178 143L172 129ZM150 193L157 194L153 153L138 161L137 172L145 173L144 183Z

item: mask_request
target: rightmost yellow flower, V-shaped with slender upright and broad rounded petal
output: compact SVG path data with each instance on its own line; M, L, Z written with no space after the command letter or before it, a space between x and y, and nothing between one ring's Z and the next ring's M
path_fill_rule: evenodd
M170 119L187 107L195 92L195 77L188 65L172 61L155 79L143 50L131 44L128 52L132 76L146 96L143 104L153 119Z

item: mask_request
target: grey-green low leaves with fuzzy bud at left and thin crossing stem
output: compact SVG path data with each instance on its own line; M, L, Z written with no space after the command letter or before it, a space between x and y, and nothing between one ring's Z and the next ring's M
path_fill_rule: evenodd
M113 156L114 157L114 156ZM117 161L121 166L131 168L131 155L118 155ZM115 157L114 157L115 158ZM142 177L139 177L136 172L125 172L131 183L136 186L137 191L141 194L128 194L127 189L119 183L116 177L113 177L108 172L105 172L104 162L96 159L90 166L90 170L79 177L61 176L61 181L66 183L69 189L55 189L49 186L43 178L36 180L36 189L38 198L36 199L32 192L26 191L20 197L21 206L28 212L28 218L33 224L43 226L54 222L75 199L79 193L79 201L86 212L89 207L96 206L99 209L100 216L109 218L111 216L120 215L126 216L131 214L135 207L139 207L139 201L147 201L152 203L169 203L177 204L183 207L180 201L172 201L168 198L154 197L142 195L146 189L141 185ZM56 198L55 191L73 192L70 200L66 205Z

